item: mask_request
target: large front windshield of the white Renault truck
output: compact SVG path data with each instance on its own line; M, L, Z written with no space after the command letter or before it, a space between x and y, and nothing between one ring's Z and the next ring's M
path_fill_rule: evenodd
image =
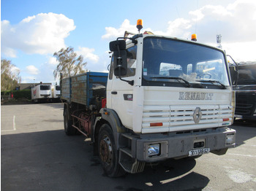
M182 79L182 80L181 80ZM143 85L229 85L221 51L175 39L146 37L143 43ZM187 86L192 87L192 86Z

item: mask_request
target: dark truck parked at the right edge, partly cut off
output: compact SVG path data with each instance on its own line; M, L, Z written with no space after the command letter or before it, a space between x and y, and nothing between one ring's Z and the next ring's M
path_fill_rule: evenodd
M256 120L256 63L230 64L230 74L236 92L235 117Z

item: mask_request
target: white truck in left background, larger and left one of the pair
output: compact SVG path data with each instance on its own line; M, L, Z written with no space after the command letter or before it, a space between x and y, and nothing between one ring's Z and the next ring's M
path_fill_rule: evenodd
M42 103L49 101L52 97L51 85L36 85L31 87L31 101L34 103Z

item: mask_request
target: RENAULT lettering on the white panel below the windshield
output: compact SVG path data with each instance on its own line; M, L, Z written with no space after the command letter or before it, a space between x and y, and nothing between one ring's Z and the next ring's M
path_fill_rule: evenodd
M212 100L214 93L180 92L179 100Z

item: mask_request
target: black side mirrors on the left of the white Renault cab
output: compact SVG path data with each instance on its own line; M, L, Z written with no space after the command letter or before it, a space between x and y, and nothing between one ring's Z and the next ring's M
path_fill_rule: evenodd
M110 42L109 48L110 51L113 52L113 68L115 76L125 76L127 74L126 42L124 40L116 40Z

